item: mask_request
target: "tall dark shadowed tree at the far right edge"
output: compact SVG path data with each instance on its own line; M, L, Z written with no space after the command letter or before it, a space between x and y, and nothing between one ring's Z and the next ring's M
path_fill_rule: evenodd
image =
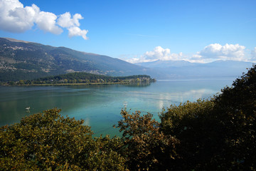
M215 97L215 117L225 136L225 165L240 170L255 170L256 160L256 66L233 87Z

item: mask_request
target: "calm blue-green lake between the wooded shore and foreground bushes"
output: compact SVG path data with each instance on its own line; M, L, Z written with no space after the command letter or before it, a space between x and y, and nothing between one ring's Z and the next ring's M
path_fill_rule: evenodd
M156 81L129 86L0 86L0 125L18 123L26 115L56 107L61 108L62 115L85 120L95 136L119 135L112 125L122 119L122 108L149 112L159 120L162 108L213 97L233 81L235 78Z

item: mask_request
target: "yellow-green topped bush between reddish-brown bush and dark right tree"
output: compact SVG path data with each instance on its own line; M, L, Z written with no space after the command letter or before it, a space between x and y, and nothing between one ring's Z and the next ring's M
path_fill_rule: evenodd
M207 165L218 151L221 134L213 108L213 100L198 100L171 105L166 113L161 113L161 130L180 140L176 146L180 157L172 163L175 170L209 169Z

